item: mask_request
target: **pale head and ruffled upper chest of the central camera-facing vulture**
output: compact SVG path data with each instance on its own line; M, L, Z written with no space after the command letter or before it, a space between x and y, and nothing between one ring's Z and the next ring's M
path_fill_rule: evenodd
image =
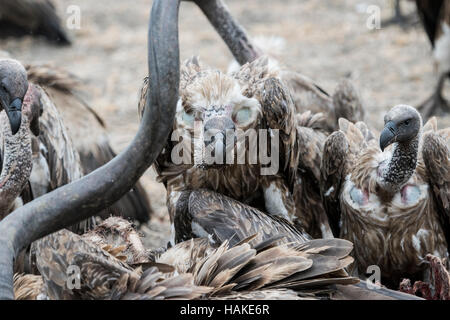
M182 76L187 81L181 84L174 131L182 143L193 142L191 161L205 170L235 163L232 150L244 151L245 135L258 129L260 102L233 75L201 69L196 58L187 61L182 74L189 76Z

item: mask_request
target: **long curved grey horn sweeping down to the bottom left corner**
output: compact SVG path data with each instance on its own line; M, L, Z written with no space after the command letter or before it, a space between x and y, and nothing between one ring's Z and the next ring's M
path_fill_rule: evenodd
M179 0L155 0L148 34L150 92L139 131L106 165L14 211L0 222L0 299L13 299L13 263L31 242L108 207L136 183L172 129L179 86Z

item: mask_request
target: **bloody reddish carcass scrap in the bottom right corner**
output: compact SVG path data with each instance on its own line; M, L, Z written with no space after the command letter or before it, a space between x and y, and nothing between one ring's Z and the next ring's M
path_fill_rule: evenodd
M411 285L411 280L403 279L400 291L427 300L450 300L450 275L446 263L431 254L427 255L426 260L430 264L429 282L416 281Z

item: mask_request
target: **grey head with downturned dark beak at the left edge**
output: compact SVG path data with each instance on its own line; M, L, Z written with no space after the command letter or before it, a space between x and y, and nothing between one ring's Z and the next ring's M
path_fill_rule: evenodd
M13 59L0 60L0 111L6 111L13 134L20 128L27 90L27 73L22 64Z

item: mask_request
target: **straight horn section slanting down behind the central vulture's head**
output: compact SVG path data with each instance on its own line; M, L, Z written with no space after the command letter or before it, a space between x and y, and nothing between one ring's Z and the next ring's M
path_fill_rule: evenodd
M260 56L245 30L231 16L222 0L193 0L222 37L239 64L251 62Z

